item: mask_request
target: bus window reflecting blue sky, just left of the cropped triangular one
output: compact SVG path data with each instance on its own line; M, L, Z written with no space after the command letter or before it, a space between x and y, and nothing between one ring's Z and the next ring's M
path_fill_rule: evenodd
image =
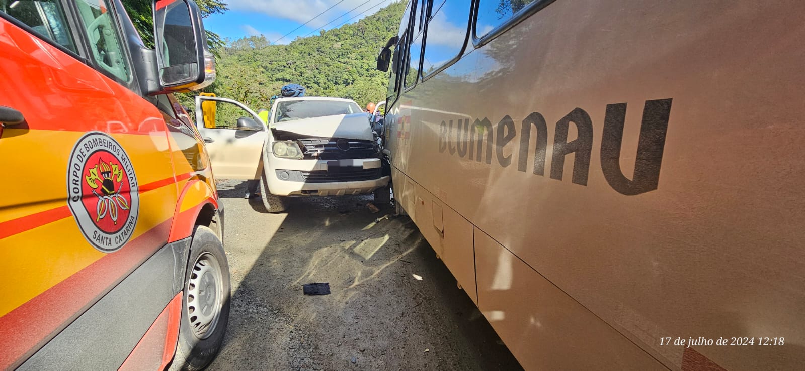
M436 2L440 2L437 0ZM437 9L438 7L438 9ZM455 59L464 47L469 22L469 5L460 0L442 0L433 5L434 12L425 31L422 74L427 75Z

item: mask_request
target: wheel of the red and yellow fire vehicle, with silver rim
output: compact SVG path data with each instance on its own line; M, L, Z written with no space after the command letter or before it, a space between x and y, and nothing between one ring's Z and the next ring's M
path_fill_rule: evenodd
M213 362L229 321L229 263L221 240L206 226L196 226L192 238L171 370L204 369Z

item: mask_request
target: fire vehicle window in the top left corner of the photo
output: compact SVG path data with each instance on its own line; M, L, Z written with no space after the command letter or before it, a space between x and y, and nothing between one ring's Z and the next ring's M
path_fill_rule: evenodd
M64 8L56 1L15 1L6 4L0 0L0 11L31 27L37 35L76 52L70 29L64 18Z

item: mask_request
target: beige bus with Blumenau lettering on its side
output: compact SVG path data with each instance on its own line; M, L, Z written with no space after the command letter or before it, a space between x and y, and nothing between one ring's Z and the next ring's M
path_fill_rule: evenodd
M525 369L805 368L803 14L409 2L394 195Z

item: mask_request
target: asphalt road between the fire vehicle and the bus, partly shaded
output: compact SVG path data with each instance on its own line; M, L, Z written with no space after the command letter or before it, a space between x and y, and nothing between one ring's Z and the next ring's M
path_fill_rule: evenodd
M521 369L411 219L371 196L265 214L245 191L219 184L233 296L210 369ZM332 294L303 295L313 282Z

